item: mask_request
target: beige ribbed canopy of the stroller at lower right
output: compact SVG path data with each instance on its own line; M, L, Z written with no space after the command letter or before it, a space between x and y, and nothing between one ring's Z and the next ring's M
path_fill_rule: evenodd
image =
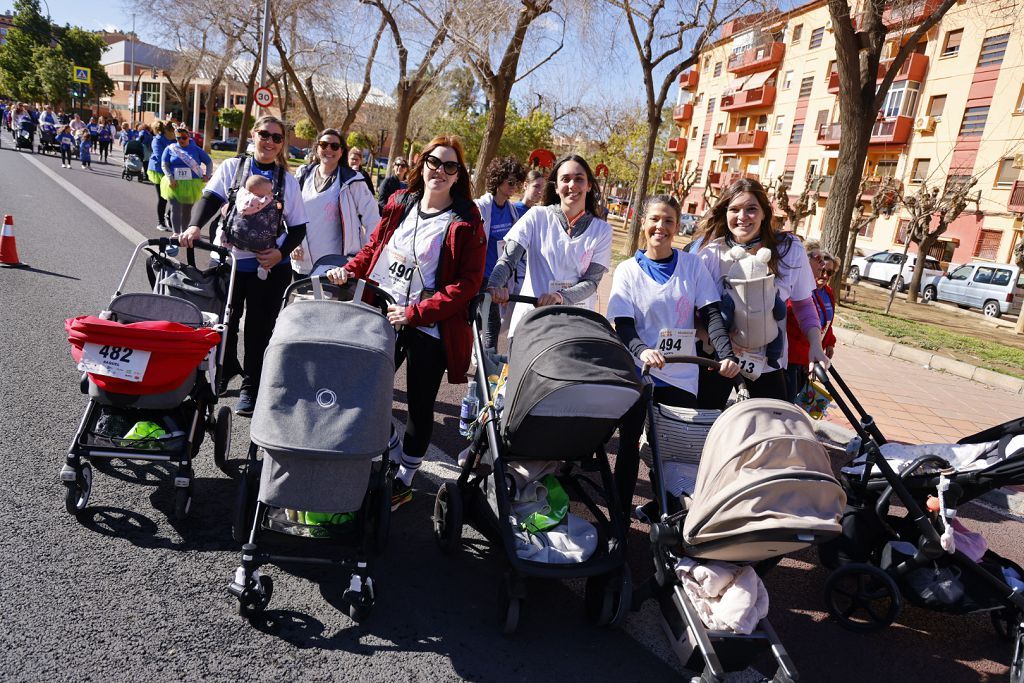
M752 398L722 413L708 434L683 540L695 557L757 561L838 535L845 505L807 415Z

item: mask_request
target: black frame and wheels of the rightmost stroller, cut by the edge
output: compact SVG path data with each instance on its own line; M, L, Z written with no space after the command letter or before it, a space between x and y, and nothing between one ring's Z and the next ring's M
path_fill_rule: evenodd
M940 533L944 528L945 521L941 517L933 521L920 503L922 496L915 497L911 488L919 493L929 492L937 489L945 481L949 485L943 494L945 507L949 510L955 510L958 504L967 503L988 490L1011 483L1015 479L1019 481L1021 474L1024 473L1022 471L1024 468L1019 464L1011 463L1008 467L996 465L985 471L956 472L947 461L938 456L923 456L897 472L880 451L879 446L887 442L885 436L871 416L854 396L853 391L835 366L829 368L827 372L820 368L817 369L815 376L821 381L825 390L831 394L833 399L861 439L857 454L851 455L864 456L863 472L856 477L843 473L840 480L847 488L851 501L860 501L865 512L873 515L871 519L884 532L874 544L876 547L866 553L866 561L842 563L838 555L836 557L824 555L821 557L822 564L833 569L833 573L825 583L825 601L828 605L828 611L839 620L841 626L851 631L871 632L886 628L896 620L904 599L896 580L914 569L927 567L937 560L943 559L957 567L962 577L969 578L974 586L984 586L991 590L991 594L996 598L992 602L999 603L997 606L981 607L967 613L978 611L990 613L996 634L1014 644L1010 668L1011 683L1022 683L1024 681L1024 595L1013 590L1005 581L987 571L981 564L973 561L959 550L951 554L943 550ZM856 414L851 409L850 403L856 410ZM958 443L993 440L992 437L995 436L998 429L999 427L995 427L965 437ZM882 477L871 477L872 467L878 468ZM923 471L926 469L931 471ZM889 504L893 495L907 510L907 514L903 518L889 514ZM911 535L916 535L918 538L915 539ZM893 563L888 569L883 569L880 566L877 551L890 541L910 542L915 546L916 552L909 559ZM1005 558L998 559L1002 560L1004 563L1013 564ZM1000 563L1000 566L1005 566L1005 564ZM1017 565L1013 566L1020 570ZM840 584L844 580L850 579L855 580L861 587L852 596L843 594L840 589ZM876 595L866 595L864 587L873 590ZM883 596L883 599L889 603L886 611L881 614L871 608L871 602L877 600L879 595ZM844 597L850 599L848 605L842 604ZM938 610L927 605L921 606ZM866 622L853 621L851 617L861 610L866 612Z

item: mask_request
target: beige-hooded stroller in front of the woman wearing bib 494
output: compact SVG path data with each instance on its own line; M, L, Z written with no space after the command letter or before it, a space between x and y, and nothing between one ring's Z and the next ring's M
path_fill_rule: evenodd
M673 361L717 366L703 358ZM650 401L649 390L647 395ZM706 571L709 566L724 566L710 562L727 562L739 570L736 583L745 574L746 581L760 586L748 568L751 565L840 533L846 495L831 474L828 456L814 437L810 420L799 408L781 400L752 398L730 407L708 433L692 492L677 501L667 494L678 486L664 478L667 468L657 447L653 411L650 401L651 484L662 510L660 521L650 530L655 566L652 589L673 648L683 666L699 673L701 683L722 681L727 672L745 670L765 649L771 650L778 665L773 681L796 681L793 660L766 617L748 617L749 633L715 626L714 618L714 628L709 628L708 604L695 601L692 584L686 584L687 578L696 574L686 572L695 566ZM767 612L763 586L760 591L758 606Z

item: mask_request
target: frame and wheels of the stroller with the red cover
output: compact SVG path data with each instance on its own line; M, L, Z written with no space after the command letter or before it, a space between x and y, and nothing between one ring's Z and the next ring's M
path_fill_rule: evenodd
M128 261L128 265L121 276L117 290L111 297L111 301L113 302L122 295L128 281L129 273L134 267L135 262L138 260L139 254L146 247L159 248L159 252L154 252L150 249L145 249L145 251L156 256L164 267L183 267L177 260L167 256L166 254L167 248L172 244L176 245L177 243L169 238L146 240L145 242L139 243L135 247L134 252L132 252L131 259ZM195 266L196 264L195 249L215 252L219 254L222 259L224 259L222 263L226 263L227 260L230 262L227 295L225 297L225 301L223 302L222 309L223 315L220 322L213 326L213 329L220 332L220 344L215 351L211 351L213 357L208 357L208 359L204 361L209 369L209 381L204 378L202 373L199 373L196 385L188 392L188 395L185 396L184 400L175 409L139 409L142 411L148 411L153 414L163 412L164 410L176 410L186 403L189 404L189 408L193 411L193 417L191 422L188 425L188 431L185 432L184 442L179 449L162 453L146 453L138 449L120 447L117 445L104 445L99 447L87 444L85 443L86 430L88 429L88 426L92 424L97 411L100 410L100 403L95 398L90 398L85 412L82 415L82 419L79 422L75 436L72 438L65 465L60 469L60 480L67 488L65 507L70 514L76 516L83 514L89 503L93 480L92 462L96 462L97 468L99 467L99 462L106 463L114 459L176 463L177 468L174 473L174 516L178 520L185 519L191 509L194 476L191 459L193 456L195 456L199 451L199 446L203 441L204 429L208 431L214 439L215 463L221 470L225 467L227 453L230 451L231 411L228 407L221 405L220 409L216 411L216 414L214 413L217 405L217 394L213 390L213 387L216 386L217 375L219 375L221 371L224 359L223 356L227 338L225 332L227 329L227 319L231 314L231 294L234 289L236 263L229 250L224 249L223 247L214 246L201 240L195 243L195 248L185 250L187 263L191 266ZM171 296L168 294L166 286L160 284L159 279L157 284L154 286L154 293ZM202 368L202 366L200 366L200 368ZM83 373L81 380L81 389L83 393L88 393L88 377L85 373Z

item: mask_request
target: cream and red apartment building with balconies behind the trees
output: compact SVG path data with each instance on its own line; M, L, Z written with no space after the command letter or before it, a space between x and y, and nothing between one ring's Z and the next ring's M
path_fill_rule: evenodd
M887 11L890 42L883 59L928 16L938 0ZM963 263L1006 262L1024 230L1024 9L1011 0L959 2L928 32L890 88L871 133L861 201L892 177L912 194L922 183L950 187L977 178L969 205L936 256ZM743 175L783 177L796 199L822 177L817 213L798 227L820 234L839 161L839 77L824 0L773 18L754 16L723 27L698 66L679 79L673 112L676 156L664 184L680 188L684 211L707 209L714 193ZM887 65L880 66L879 78ZM690 176L693 177L693 176ZM880 251L903 244L907 216L897 212L863 231L857 246Z

